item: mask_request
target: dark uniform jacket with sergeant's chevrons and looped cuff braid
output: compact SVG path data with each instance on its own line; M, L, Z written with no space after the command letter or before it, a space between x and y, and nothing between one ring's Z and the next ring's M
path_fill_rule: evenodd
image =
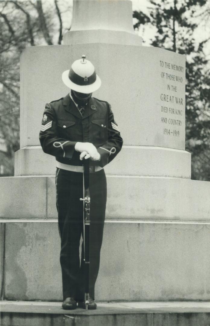
M101 160L92 164L101 167L113 160L123 144L109 103L91 97L82 116L69 94L46 104L39 140L43 151L58 162L79 166L83 161L74 149L77 141L96 146Z

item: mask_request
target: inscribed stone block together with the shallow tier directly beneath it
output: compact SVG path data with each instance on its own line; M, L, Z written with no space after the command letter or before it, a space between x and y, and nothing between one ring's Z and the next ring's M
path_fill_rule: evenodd
M190 155L185 152L185 73L178 71L185 68L185 57L158 48L88 43L24 50L21 149L15 155L15 175L54 173L52 158L37 147L40 119L45 103L68 93L61 75L81 53L93 58L102 80L94 96L111 103L124 139L118 174L190 177ZM47 73L40 80L44 70ZM172 85L169 78L177 81ZM111 173L116 174L115 166Z

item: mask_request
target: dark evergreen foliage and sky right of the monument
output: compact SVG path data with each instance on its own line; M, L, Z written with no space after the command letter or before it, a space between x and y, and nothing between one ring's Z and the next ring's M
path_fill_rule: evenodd
M150 0L150 5L150 17L134 13L136 26L152 24L152 46L186 55L186 150L192 154L192 178L210 181L210 65L204 53L210 35L195 39L203 21L210 28L210 2Z

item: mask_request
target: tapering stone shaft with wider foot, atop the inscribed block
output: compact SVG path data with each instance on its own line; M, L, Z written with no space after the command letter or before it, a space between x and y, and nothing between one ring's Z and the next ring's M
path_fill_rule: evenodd
M131 1L74 1L71 30L64 44L142 45L133 30Z

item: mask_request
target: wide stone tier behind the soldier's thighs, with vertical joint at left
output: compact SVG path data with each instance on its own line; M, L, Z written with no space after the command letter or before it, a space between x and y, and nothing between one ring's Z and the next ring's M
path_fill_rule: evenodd
M0 218L57 218L55 178L0 178ZM209 221L210 183L181 178L107 176L108 219Z

